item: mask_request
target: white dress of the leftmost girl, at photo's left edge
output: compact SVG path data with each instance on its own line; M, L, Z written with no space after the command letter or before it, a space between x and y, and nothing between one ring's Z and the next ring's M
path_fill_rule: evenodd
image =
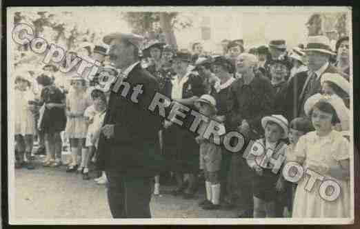
M15 90L14 93L14 119L15 135L35 135L36 126L34 113L29 108L29 101L34 101L35 95L32 90Z

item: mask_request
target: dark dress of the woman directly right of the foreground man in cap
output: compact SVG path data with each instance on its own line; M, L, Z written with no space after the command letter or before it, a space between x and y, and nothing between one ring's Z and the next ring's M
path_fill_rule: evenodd
M183 84L182 98L188 99L193 96L200 97L206 93L203 79L199 74L190 73L188 81ZM189 107L196 110L194 106ZM190 126L194 121L192 115L187 115L183 120L183 126L172 124L163 132L163 150L166 159L170 161L171 170L182 173L196 173L199 171L199 145L195 141L196 135L190 132Z

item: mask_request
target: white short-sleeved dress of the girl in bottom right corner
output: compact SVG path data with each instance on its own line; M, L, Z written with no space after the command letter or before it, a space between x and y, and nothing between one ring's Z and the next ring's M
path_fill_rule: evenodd
M332 130L325 137L309 132L299 139L295 154L305 157L304 169L310 163L322 163L328 168L340 168L339 161L349 159L349 142L340 132ZM334 201L322 199L319 195L321 181L317 180L310 192L305 190L308 175L299 181L294 199L293 218L345 218L350 217L350 182L323 174L325 179L336 181L341 187L339 197Z

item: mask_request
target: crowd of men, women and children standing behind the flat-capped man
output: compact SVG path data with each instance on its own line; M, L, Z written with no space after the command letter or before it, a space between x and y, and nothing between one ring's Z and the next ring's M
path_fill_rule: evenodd
M137 46L134 38L126 39ZM104 38L104 43L111 42ZM208 117L197 132L189 130L191 117L183 119L182 127L173 119L161 121L159 146L148 148L156 151L163 163L163 170L152 179L153 195L161 194L161 186L174 181L172 195L176 198L197 199L199 188L205 186L206 199L199 202L204 210L227 208L239 211L239 217L349 217L349 37L341 37L335 50L323 35L309 36L306 46L291 48L281 39L251 49L246 49L242 39L226 39L221 44L223 53L211 56L203 54L201 43L194 43L192 53L154 40L137 46L141 61L132 68L141 68L156 79L158 91L173 101L172 106L176 101ZM66 172L78 172L88 180L92 162L101 161L99 139L110 131L103 127L104 120L108 112L114 112L108 109L114 102L110 88L124 69L110 64L118 58L116 49L88 43L79 52L102 63L91 81L76 71L55 77L60 73L54 65L44 66L35 76L29 69L17 67L16 168L34 168L35 138L39 153L46 152L43 166L61 166L66 141L71 152ZM136 110L129 104L115 108L129 115L132 110L125 108ZM282 155L286 161L297 161L337 181L341 186L339 198L322 199L319 181L307 190L309 177L290 183L281 172L274 174L272 163L261 163L266 155L255 157L250 153L244 158L243 151L229 152L214 139L197 134L205 131L210 120L222 123L226 132L240 132L246 143L254 141L264 150L274 150L273 158ZM147 123L142 128L146 132L156 125ZM119 135L115 141L128 138L117 129L114 135ZM134 132L128 135L137 137ZM148 141L137 144L149 146ZM120 166L125 164L123 161ZM99 166L98 170L97 182L106 183L106 169Z

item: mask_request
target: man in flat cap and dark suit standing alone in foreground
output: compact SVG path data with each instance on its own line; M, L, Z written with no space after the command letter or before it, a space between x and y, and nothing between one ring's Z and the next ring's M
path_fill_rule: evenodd
M139 64L141 37L112 33L103 42L112 64L123 70L112 85L99 141L108 203L114 218L150 218L151 178L165 166L157 138L161 119L148 110L159 83Z

